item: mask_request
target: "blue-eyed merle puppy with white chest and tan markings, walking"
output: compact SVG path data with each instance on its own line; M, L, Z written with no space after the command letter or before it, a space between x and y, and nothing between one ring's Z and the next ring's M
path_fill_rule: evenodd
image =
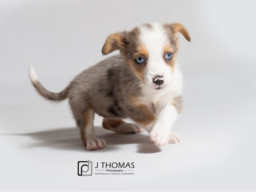
M105 129L122 134L146 129L157 145L177 143L180 136L172 132L172 127L182 104L182 76L176 64L179 32L190 41L189 33L179 23L143 24L110 35L102 54L117 49L120 54L84 70L60 93L45 89L32 66L29 77L45 99L69 99L87 150L106 147L93 128L95 113L104 117Z

